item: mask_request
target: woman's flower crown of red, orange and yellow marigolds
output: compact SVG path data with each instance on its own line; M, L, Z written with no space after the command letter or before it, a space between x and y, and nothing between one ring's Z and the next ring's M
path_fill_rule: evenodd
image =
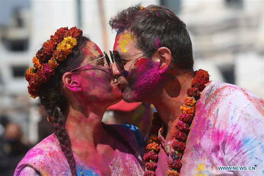
M30 97L39 96L41 84L55 74L54 69L72 53L78 38L82 35L83 31L76 27L59 28L54 35L51 35L50 40L43 43L43 49L38 50L36 57L32 59L34 67L28 68L25 75Z

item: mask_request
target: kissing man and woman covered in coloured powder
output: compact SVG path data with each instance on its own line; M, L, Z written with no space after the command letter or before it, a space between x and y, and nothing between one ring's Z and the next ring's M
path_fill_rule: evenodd
M130 6L109 24L110 56L64 27L33 57L28 92L56 130L14 175L263 175L262 98L194 71L186 25L167 7ZM157 109L146 140L133 125L102 123L122 98Z

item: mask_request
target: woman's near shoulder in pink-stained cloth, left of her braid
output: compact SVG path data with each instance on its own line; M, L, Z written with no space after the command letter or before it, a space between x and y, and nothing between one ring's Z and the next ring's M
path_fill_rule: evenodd
M58 172L67 170L68 162L55 134L51 134L29 150L16 167L15 174L19 175L25 167L31 167L41 175L59 175ZM65 167L65 168L63 168Z

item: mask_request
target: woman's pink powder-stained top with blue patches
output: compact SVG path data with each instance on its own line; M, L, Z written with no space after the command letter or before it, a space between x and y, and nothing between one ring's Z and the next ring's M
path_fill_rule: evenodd
M141 131L133 125L111 125L118 133L130 142L136 152L136 157L117 139L115 141L115 155L109 167L112 175L143 175L144 140ZM73 153L78 176L101 175L93 166L85 164ZM60 175L70 176L70 166L60 149L55 134L52 134L28 151L15 170L18 175Z

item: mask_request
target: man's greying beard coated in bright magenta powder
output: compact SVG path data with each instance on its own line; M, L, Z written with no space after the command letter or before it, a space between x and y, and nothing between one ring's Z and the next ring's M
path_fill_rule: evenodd
M131 84L125 84L126 88L122 90L123 99L128 102L146 102L151 101L153 94L161 87L164 74L159 73L159 64L148 64L141 75L137 75L130 81Z

